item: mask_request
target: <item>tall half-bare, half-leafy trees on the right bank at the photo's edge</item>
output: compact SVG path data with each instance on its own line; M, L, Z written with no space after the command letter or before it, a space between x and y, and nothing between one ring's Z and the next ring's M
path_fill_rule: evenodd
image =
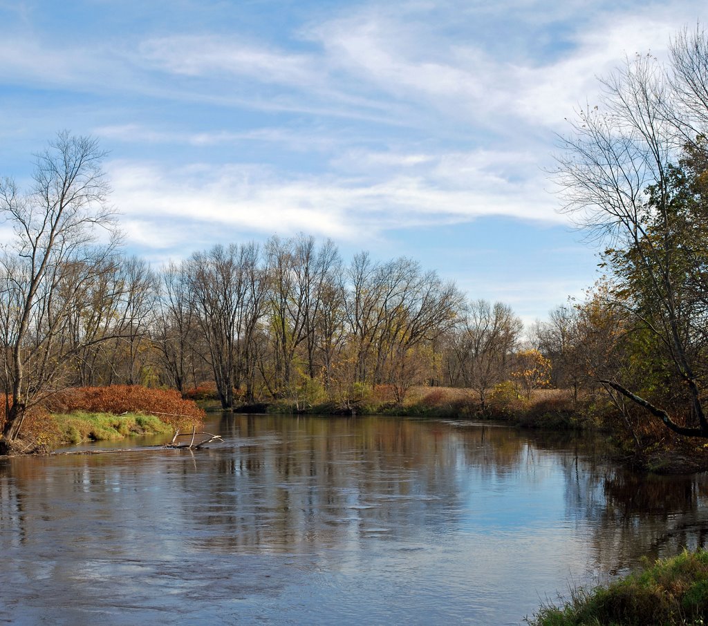
M669 53L637 54L603 79L554 175L565 210L603 246L595 296L612 333L595 378L627 424L634 407L707 437L708 35L686 28Z

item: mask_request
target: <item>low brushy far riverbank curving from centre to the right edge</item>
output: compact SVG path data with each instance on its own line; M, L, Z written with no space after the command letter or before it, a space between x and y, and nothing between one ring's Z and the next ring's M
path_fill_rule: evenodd
M634 470L657 474L708 471L705 440L678 436L639 407L619 415L605 393L573 398L571 390L539 389L530 397L512 386L498 386L484 407L469 389L413 387L404 402L394 402L389 386L377 386L359 400L307 402L270 400L241 405L235 412L283 415L387 415L433 419L475 419L551 431L599 432L616 450L616 458Z

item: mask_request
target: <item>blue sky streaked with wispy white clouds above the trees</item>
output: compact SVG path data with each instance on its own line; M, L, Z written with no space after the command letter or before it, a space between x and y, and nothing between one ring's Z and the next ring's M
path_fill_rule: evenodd
M0 176L91 135L127 250L312 234L526 323L598 279L558 135L704 0L0 0ZM0 238L2 238L0 228Z

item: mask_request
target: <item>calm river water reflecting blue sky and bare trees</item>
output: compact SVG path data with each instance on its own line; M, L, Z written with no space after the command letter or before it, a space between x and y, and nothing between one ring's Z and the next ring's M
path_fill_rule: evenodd
M206 429L224 444L0 459L0 622L518 624L708 540L705 475L635 475L600 442L388 417Z

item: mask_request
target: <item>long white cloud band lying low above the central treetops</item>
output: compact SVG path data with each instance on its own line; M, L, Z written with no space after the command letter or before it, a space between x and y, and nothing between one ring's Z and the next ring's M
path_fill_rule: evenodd
M376 166L380 159L374 154L370 163ZM265 234L306 231L365 241L390 228L459 223L479 216L563 221L554 211L553 199L533 182L486 172L480 155L472 156L462 173L445 171L445 162L464 161L461 155L416 155L413 161L437 165L428 173L410 174L405 173L406 159L401 163L392 158L389 165L399 167L379 172L377 180L371 173L358 178L330 174L284 179L258 166L199 164L168 170L113 162L109 171L115 202L129 217L149 215L171 223L198 220ZM464 176L464 185L460 178L450 185L455 176ZM150 240L145 236L139 243L149 245Z

